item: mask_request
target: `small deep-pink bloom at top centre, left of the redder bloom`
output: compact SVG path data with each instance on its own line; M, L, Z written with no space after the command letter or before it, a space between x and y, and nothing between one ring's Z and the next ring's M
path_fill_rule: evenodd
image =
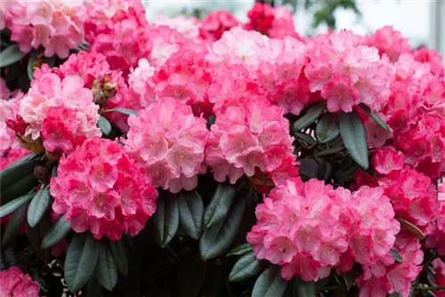
M223 36L225 31L237 27L239 21L226 11L214 11L206 15L199 26L199 36L201 38L216 41Z

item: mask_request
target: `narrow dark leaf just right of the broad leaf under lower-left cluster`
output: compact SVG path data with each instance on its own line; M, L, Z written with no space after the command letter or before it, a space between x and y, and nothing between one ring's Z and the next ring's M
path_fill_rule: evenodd
M96 266L96 277L99 283L109 291L117 284L117 266L107 242L102 240L99 248L99 260Z

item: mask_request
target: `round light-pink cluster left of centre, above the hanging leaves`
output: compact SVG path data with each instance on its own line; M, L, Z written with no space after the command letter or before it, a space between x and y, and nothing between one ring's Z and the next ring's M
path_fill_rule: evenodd
M153 178L155 187L173 193L195 189L198 174L206 173L206 120L193 116L180 100L162 98L128 119L125 149Z

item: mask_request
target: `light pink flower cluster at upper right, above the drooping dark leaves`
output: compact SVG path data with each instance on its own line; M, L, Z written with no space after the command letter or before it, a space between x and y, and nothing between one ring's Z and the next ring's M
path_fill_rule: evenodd
M391 64L376 48L361 43L360 36L341 31L315 36L307 44L309 87L327 100L330 112L350 112L360 103L378 112L388 100Z

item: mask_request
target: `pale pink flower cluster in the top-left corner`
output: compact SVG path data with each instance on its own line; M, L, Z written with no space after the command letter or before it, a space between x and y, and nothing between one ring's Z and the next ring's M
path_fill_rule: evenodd
M84 1L64 2L51 0L6 1L4 25L11 29L11 40L19 43L21 52L44 47L44 55L57 54L65 59L69 50L84 41L84 23L87 18ZM2 6L4 2L2 2Z

